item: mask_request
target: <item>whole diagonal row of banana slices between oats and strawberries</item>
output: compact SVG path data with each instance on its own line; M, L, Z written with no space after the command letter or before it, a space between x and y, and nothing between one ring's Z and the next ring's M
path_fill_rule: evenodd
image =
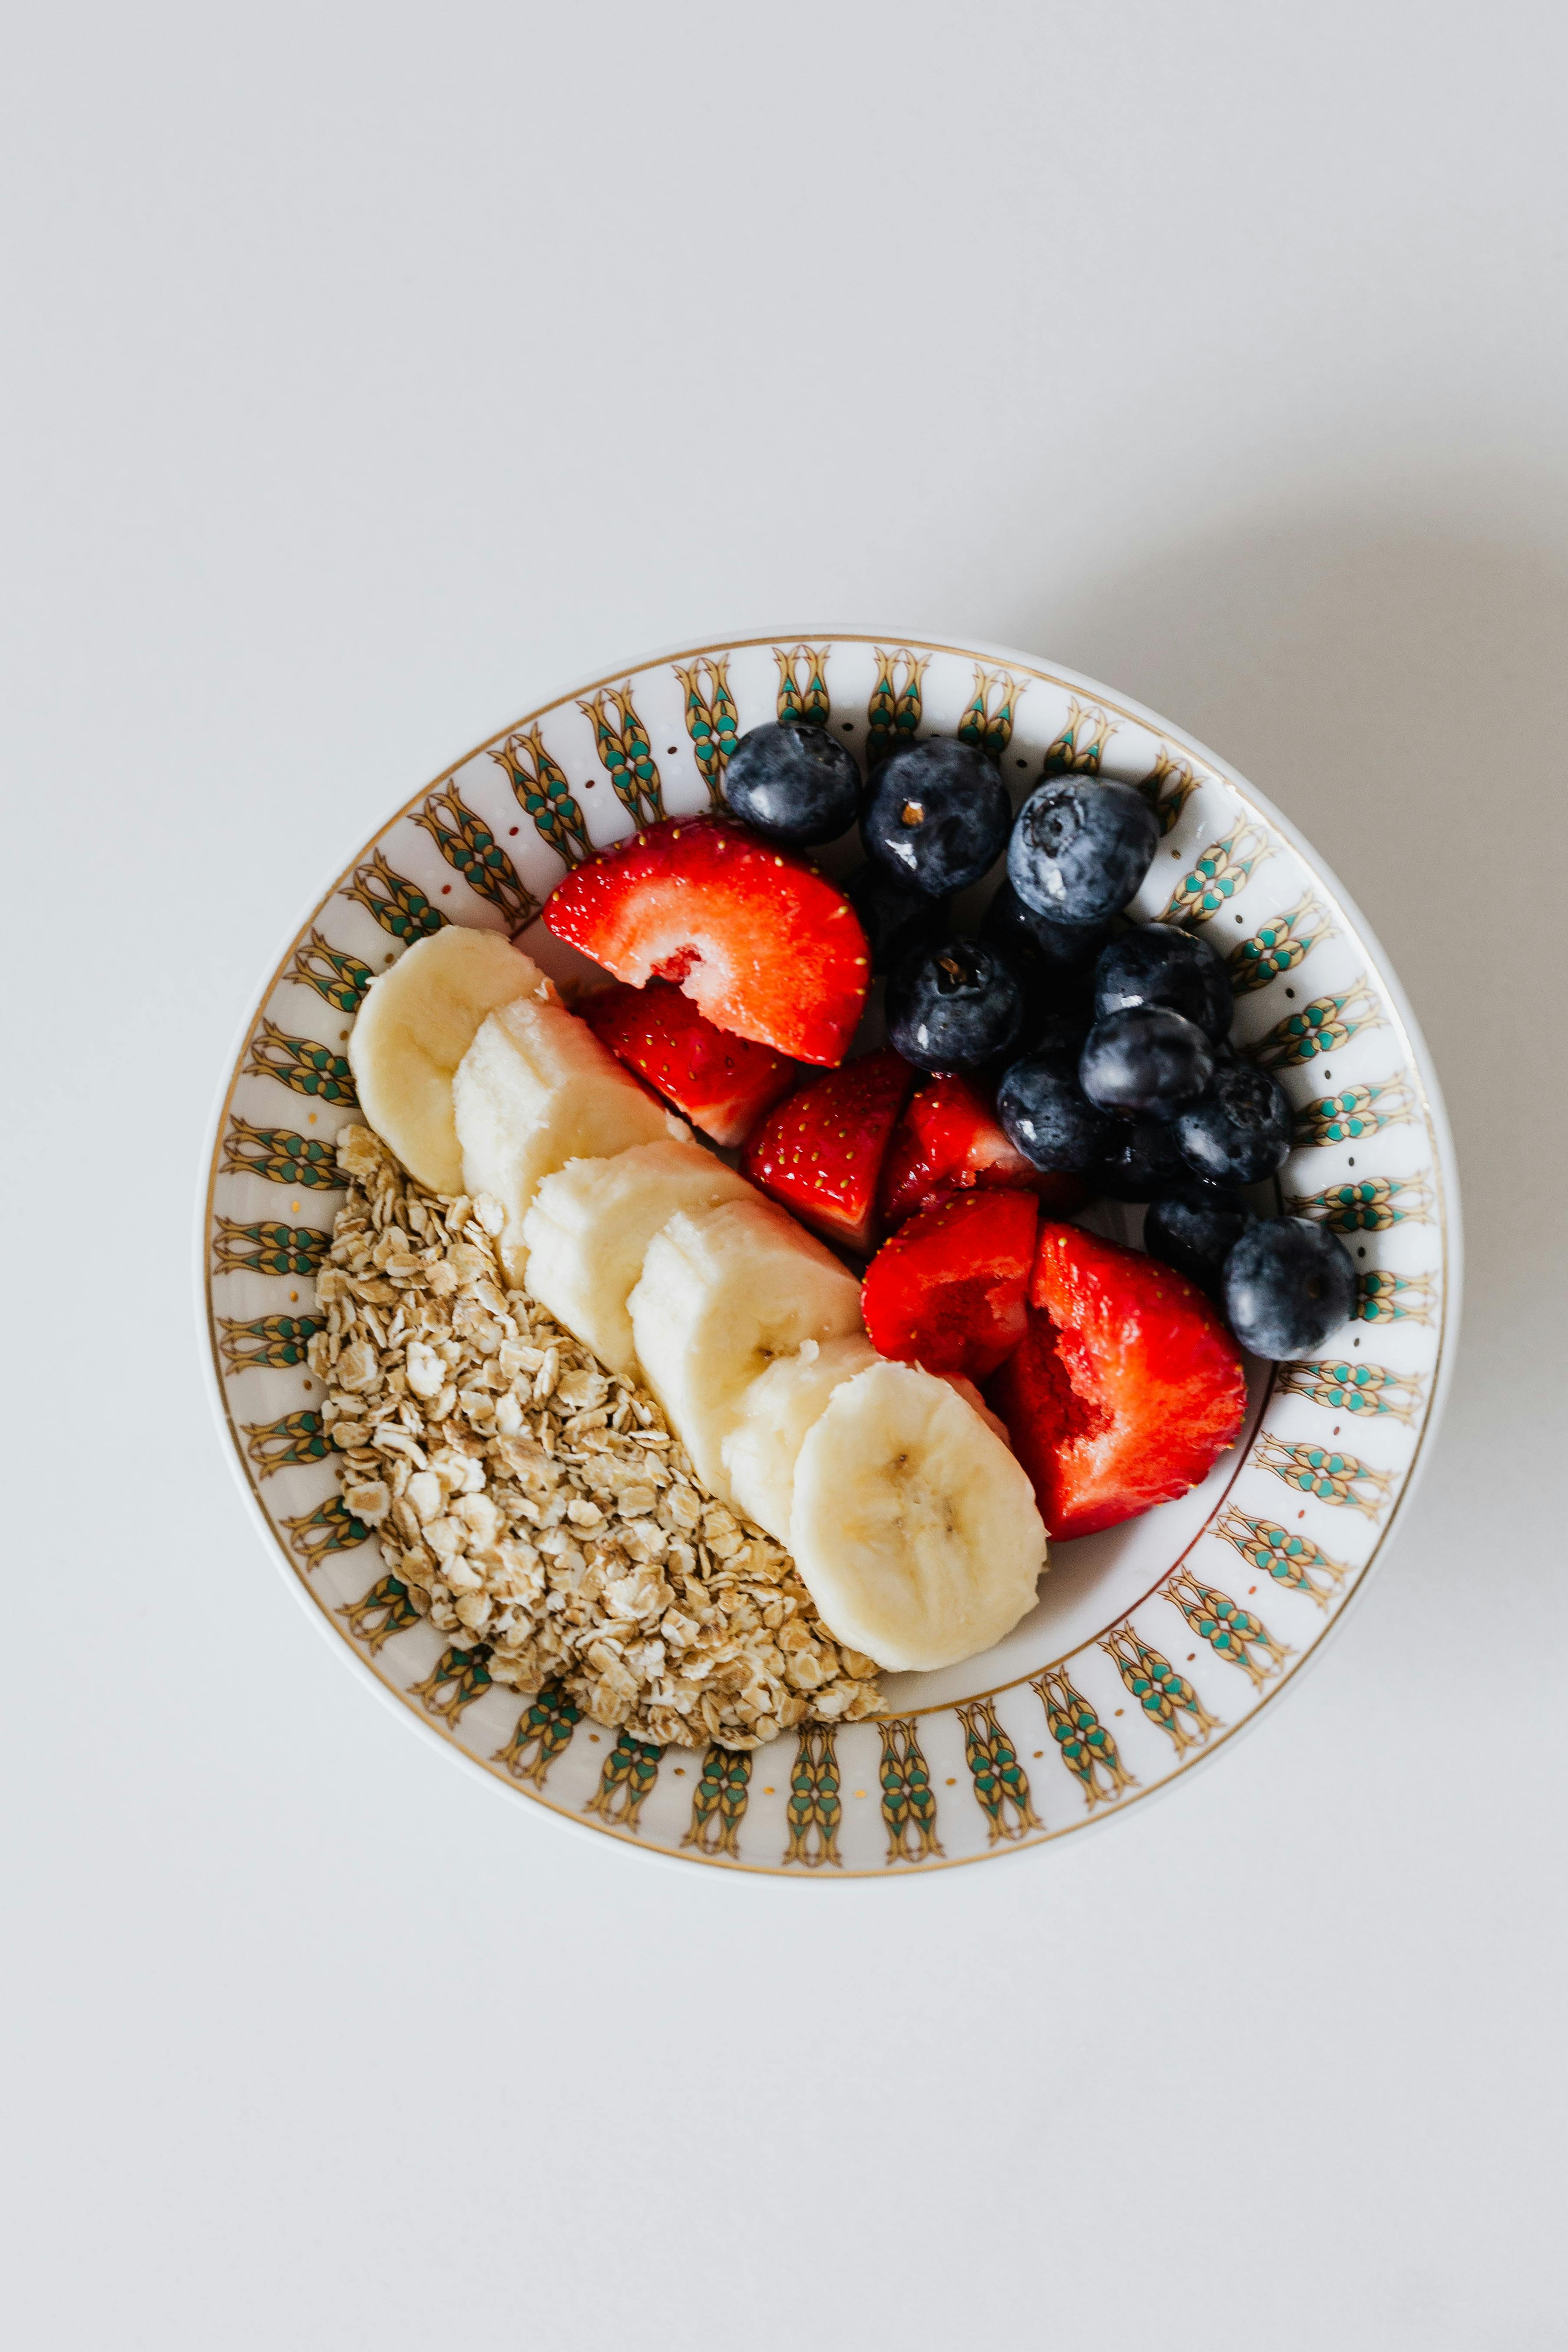
M978 1392L882 1359L856 1277L527 955L496 931L418 941L371 983L348 1058L409 1174L501 1202L510 1282L651 1388L703 1486L795 1555L842 1642L952 1665L1034 1606L1046 1534Z

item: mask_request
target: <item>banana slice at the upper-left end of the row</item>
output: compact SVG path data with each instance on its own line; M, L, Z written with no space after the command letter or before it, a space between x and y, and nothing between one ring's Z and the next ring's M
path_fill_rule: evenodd
M545 985L538 964L501 931L447 924L416 938L371 981L348 1033L360 1108L409 1176L433 1192L463 1190L451 1122L451 1075L480 1023Z

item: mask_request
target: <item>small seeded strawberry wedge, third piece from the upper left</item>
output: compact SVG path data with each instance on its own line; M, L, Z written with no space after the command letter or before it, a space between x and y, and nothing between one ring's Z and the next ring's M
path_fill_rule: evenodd
M792 1094L745 1145L755 1185L863 1256L877 1237L877 1176L914 1070L884 1047Z

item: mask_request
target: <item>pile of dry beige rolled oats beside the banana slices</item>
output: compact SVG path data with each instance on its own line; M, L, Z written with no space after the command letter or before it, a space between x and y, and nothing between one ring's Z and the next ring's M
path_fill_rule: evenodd
M343 1501L421 1616L496 1682L559 1682L661 1745L875 1712L875 1663L698 1486L654 1397L505 1289L501 1209L425 1192L369 1127L339 1167L310 1367Z

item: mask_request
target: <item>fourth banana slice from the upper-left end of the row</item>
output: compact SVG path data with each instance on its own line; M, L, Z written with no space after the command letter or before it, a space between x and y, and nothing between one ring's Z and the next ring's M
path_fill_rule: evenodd
M778 1355L860 1331L860 1284L773 1202L682 1209L649 1242L630 1301L644 1378L691 1465L731 1498L724 1439Z

